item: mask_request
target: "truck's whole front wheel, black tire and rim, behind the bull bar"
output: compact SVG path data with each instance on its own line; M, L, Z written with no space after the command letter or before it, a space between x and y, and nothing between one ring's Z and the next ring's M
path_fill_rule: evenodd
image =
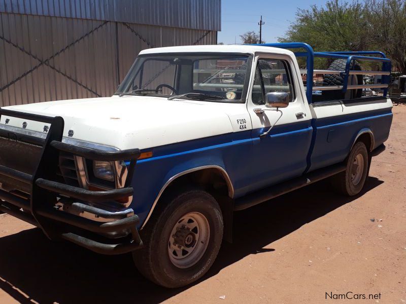
M188 190L162 201L141 231L145 247L133 252L138 270L152 282L176 288L206 274L223 238L223 218L207 192Z

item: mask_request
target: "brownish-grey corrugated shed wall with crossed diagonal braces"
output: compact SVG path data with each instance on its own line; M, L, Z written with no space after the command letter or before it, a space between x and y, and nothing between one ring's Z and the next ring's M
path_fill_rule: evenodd
M211 29L49 15L0 13L0 106L111 96L141 50L217 43Z

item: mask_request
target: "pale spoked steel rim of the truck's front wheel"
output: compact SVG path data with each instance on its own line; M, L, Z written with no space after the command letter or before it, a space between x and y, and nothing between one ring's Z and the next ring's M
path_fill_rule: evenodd
M168 241L168 255L178 268L189 268L206 252L210 240L210 225L199 212L182 216L174 225Z

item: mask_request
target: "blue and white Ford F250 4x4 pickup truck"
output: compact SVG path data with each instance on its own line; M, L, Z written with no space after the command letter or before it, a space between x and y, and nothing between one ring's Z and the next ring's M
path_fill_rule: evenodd
M304 43L142 51L112 97L0 109L0 211L187 285L231 240L233 211L327 177L360 193L389 135L390 70L381 52Z

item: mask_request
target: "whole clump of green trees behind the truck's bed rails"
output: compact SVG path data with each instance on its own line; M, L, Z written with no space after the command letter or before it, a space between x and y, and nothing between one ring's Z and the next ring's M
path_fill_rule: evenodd
M307 42L316 51L382 50L406 74L406 0L329 0L324 7L297 10L296 20L278 40ZM326 63L315 60L319 68L325 68ZM361 63L374 70L381 66L377 62ZM305 64L302 58L299 64Z

